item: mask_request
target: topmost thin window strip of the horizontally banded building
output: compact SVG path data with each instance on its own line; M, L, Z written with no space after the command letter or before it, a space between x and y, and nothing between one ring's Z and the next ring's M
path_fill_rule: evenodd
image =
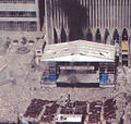
M0 0L0 3L35 3L35 0Z

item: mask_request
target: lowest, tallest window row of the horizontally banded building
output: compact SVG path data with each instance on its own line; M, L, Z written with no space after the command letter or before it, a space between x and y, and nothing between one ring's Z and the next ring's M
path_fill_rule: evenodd
M36 32L36 22L0 22L0 30Z

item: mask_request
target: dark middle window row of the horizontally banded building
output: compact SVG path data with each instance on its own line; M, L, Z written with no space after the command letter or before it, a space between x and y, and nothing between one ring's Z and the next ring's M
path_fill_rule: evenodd
M36 17L36 12L0 11L0 17Z

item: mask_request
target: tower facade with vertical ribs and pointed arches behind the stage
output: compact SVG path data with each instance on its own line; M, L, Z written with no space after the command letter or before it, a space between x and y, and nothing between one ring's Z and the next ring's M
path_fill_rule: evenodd
M131 30L130 0L46 0L48 44L75 39L112 40Z

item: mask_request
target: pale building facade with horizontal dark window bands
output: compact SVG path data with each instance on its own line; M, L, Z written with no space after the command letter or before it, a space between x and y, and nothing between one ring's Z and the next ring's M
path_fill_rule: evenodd
M38 0L0 0L0 30L39 30Z

